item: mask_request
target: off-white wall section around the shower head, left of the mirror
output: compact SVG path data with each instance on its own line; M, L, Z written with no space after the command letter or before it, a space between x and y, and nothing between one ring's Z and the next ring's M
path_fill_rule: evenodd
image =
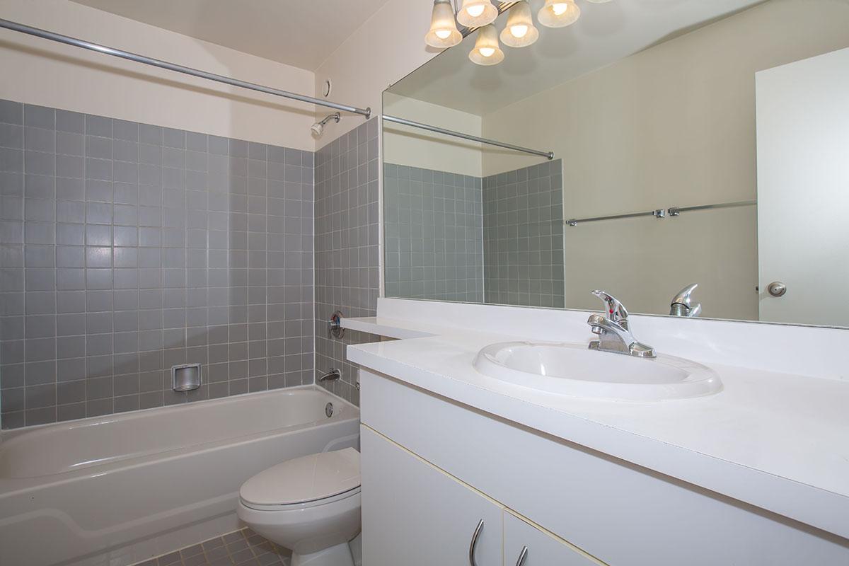
M372 115L380 115L381 92L439 53L424 43L431 8L430 0L388 0L318 67L315 92L322 92L324 81L330 78L330 100L370 106ZM317 115L325 114L325 109L318 109ZM317 147L362 123L362 116L343 113L339 124L328 125Z

